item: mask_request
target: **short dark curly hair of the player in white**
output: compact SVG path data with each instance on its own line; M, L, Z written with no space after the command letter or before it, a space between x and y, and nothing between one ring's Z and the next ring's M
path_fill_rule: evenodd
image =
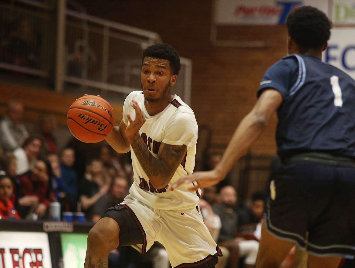
M178 75L180 72L180 56L178 51L169 44L157 43L150 45L143 51L142 63L146 57L169 60L172 74Z

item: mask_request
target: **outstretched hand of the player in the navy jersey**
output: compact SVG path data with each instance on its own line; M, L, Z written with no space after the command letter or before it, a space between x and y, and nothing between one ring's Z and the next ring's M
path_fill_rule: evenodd
M209 171L197 171L188 175L184 178L181 178L179 181L175 182L172 185L168 185L168 190L179 187L181 184L197 182L197 186L189 188L190 191L196 191L198 188L208 188L213 185L218 184L223 178L220 178L218 173L213 169Z

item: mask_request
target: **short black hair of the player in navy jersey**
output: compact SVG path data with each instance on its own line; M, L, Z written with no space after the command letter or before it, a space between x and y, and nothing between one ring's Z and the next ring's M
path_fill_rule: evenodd
M301 6L286 18L288 34L300 47L321 48L331 36L332 23L327 15L312 6Z

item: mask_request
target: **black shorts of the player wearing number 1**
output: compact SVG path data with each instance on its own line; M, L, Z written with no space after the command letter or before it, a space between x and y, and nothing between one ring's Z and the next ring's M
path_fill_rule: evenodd
M355 168L284 164L274 180L266 226L316 256L355 255ZM271 195L272 196L272 195Z

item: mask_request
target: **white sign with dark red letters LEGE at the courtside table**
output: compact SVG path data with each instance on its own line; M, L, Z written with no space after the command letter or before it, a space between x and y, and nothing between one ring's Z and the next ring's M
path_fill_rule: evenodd
M48 235L0 231L0 268L52 268Z

